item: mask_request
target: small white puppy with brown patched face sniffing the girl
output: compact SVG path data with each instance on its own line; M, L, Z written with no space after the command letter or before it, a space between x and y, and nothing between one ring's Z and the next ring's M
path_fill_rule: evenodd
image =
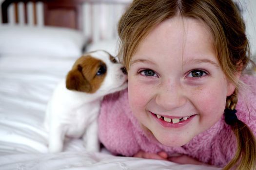
M102 98L126 87L123 66L108 52L93 51L80 57L47 105L44 125L49 131L49 152L61 152L65 136L82 137L87 151L98 152Z

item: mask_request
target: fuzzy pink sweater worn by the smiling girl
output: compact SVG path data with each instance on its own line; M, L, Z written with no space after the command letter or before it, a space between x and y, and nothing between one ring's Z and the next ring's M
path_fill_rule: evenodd
M236 115L251 128L256 136L256 77L244 76L242 80L249 89L240 91L243 95L238 97ZM223 118L180 147L167 147L150 140L132 114L128 104L127 90L104 98L98 125L100 141L114 154L132 156L139 150L149 153L165 151L169 155L186 154L201 162L224 167L236 152L236 137Z

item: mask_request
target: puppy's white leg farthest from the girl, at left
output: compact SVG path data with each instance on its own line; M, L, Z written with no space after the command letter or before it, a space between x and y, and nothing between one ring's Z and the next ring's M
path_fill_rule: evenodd
M49 152L50 153L59 153L63 149L63 140L65 137L65 132L59 127L50 128L49 131Z

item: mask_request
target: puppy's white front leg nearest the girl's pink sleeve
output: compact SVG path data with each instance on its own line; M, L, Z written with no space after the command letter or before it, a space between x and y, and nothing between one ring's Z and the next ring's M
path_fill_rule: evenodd
M93 121L87 128L83 135L83 141L86 151L99 152L98 140L98 123L97 120Z

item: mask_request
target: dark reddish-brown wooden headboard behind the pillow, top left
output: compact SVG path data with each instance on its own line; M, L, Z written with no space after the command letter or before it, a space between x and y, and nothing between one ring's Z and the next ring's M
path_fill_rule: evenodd
M15 22L19 23L18 17L18 2L33 2L34 16L36 12L36 2L43 2L44 25L68 27L81 30L81 3L82 0L4 0L1 5L2 22L8 22L8 7L14 3L15 7ZM24 5L25 23L28 22L27 7ZM37 17L34 17L34 24L37 24Z

